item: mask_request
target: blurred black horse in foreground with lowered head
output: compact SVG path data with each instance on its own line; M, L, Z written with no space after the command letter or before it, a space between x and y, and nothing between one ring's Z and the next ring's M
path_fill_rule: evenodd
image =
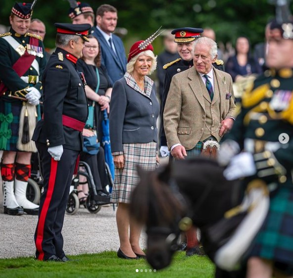
M209 228L241 200L240 184L227 181L223 170L203 157L175 161L155 171L138 169L140 182L131 196L130 214L146 227L147 261L154 269L171 263L181 231L191 225L201 229L205 251L213 256Z

